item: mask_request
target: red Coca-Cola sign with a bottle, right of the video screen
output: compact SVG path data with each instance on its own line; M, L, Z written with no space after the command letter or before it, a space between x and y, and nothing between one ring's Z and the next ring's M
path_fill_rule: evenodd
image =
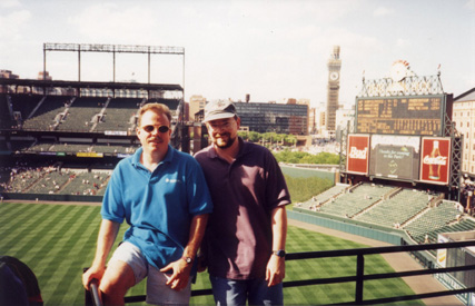
M424 137L420 148L420 180L448 185L451 138Z

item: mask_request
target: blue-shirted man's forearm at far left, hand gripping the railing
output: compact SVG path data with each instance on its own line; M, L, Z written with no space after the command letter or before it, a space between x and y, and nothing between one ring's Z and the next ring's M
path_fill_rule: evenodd
M97 240L96 256L91 267L82 275L82 285L89 289L90 282L96 278L100 282L106 270L107 256L112 248L120 224L102 219Z

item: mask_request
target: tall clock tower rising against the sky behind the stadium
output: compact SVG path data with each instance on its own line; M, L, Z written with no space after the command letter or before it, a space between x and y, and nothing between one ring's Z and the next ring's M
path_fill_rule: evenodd
M339 92L339 70L342 60L339 59L339 46L333 48L333 53L327 62L328 86L327 86L327 111L325 127L328 132L336 130L336 111L338 109Z

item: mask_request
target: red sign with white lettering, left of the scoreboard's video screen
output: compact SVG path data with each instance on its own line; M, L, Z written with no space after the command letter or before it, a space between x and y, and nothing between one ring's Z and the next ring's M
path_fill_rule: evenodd
M348 135L346 171L367 175L369 160L369 135Z

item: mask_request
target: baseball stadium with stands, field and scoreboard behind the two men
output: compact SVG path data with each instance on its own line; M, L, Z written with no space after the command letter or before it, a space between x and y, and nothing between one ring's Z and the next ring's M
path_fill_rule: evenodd
M41 78L0 78L2 263L28 272L21 278L31 305L100 304L81 274L95 255L110 175L140 147L137 111L167 105L171 145L188 154L207 146L207 131L187 119L185 81L85 81L80 62L78 80L52 80L52 51L139 53L150 75L150 57L162 55L182 58L185 71L185 50L44 43ZM364 80L337 169L280 165L291 196L313 195L287 209L286 304L475 303L475 219L462 194L463 137L452 106L439 75ZM126 303L145 305L144 294L139 284ZM214 304L207 273L198 274L190 303Z

